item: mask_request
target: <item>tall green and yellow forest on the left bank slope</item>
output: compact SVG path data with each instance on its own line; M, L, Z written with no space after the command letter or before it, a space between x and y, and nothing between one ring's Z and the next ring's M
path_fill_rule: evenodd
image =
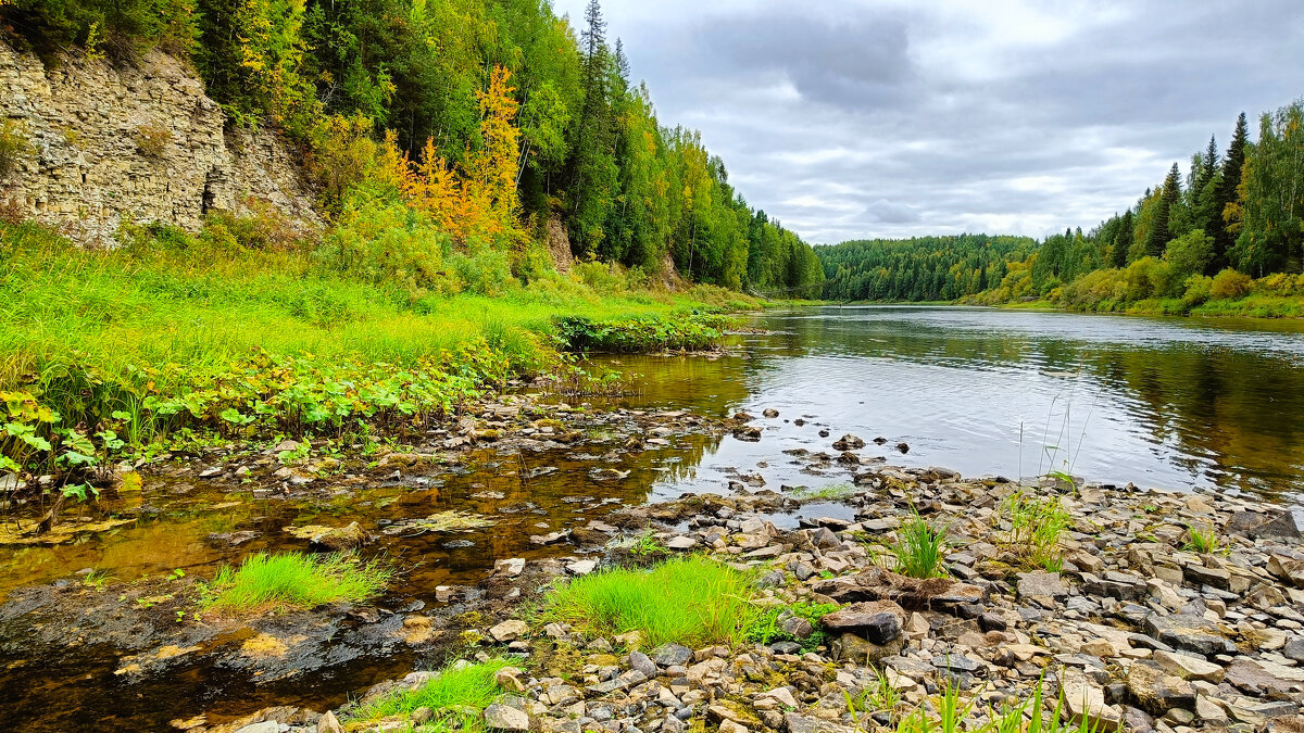
M810 247L748 206L698 132L657 119L597 0L582 23L548 0L0 0L0 33L47 64L156 48L231 124L282 130L323 210L361 232L335 237L363 250L342 260L374 258L364 240L406 207L425 232L404 273L505 253L528 280L559 218L580 261L818 296Z

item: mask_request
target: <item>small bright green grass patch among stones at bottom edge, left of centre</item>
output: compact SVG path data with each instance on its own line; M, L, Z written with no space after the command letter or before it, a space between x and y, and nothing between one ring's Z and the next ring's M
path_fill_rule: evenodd
M434 711L436 720L426 730L485 730L484 710L493 704L503 690L494 676L511 666L511 660L490 659L479 664L445 668L416 690L403 690L359 708L352 717L374 720L391 715L408 715L425 707Z

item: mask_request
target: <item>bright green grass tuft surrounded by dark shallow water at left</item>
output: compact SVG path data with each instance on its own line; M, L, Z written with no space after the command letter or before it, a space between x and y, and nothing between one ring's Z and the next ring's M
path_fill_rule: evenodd
M248 612L263 608L313 608L364 601L385 590L393 571L349 554L258 553L239 569L218 571L201 603L205 610Z

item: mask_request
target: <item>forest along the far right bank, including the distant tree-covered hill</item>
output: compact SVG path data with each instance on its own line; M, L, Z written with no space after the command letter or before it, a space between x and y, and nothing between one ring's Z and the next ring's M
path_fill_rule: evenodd
M1244 113L1226 150L1215 137L1174 163L1132 206L1084 232L1041 243L960 235L815 248L832 300L1048 301L1084 310L1299 314L1304 295L1304 102Z

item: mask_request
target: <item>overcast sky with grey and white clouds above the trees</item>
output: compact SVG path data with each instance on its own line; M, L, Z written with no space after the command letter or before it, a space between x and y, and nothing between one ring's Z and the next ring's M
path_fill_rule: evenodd
M579 30L587 0L554 0ZM662 125L812 244L1090 230L1304 95L1299 0L605 0Z

